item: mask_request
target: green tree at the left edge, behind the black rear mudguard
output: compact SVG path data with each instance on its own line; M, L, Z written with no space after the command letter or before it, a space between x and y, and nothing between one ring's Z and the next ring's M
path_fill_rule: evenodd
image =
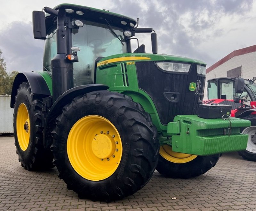
M6 72L6 63L4 58L2 58L2 51L0 50L0 95L10 95L12 93L12 83L17 74L17 71Z

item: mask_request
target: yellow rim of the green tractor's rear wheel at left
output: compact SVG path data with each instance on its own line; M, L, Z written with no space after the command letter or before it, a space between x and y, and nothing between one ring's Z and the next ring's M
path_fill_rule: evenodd
M16 131L20 149L25 151L28 148L30 137L30 120L28 109L24 103L19 105L16 118Z

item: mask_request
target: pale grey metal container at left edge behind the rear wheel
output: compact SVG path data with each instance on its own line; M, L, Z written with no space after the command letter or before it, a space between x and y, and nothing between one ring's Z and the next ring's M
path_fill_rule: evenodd
M0 95L0 134L13 133L13 108L10 107L10 101L10 95Z

